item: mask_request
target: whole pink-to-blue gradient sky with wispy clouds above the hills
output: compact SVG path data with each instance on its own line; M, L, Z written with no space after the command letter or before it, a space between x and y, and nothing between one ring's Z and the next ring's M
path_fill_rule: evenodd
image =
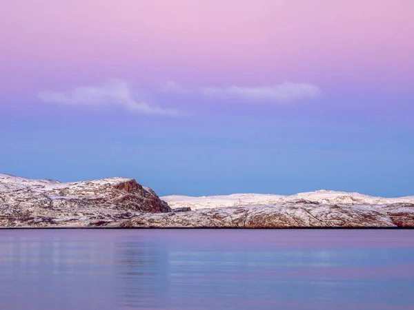
M0 173L414 195L412 0L0 4Z

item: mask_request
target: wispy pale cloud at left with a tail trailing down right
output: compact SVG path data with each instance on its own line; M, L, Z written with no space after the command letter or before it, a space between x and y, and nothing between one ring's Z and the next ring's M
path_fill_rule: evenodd
M52 91L40 92L37 96L46 103L89 105L93 107L118 105L129 112L137 114L178 116L177 110L163 109L135 99L130 85L121 79L108 80L102 86L77 87L72 92L67 93Z

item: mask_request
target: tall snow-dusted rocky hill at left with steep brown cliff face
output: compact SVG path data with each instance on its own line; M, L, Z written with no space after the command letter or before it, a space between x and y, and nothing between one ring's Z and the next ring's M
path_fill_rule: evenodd
M0 174L0 227L102 226L141 212L169 212L130 178L74 183Z

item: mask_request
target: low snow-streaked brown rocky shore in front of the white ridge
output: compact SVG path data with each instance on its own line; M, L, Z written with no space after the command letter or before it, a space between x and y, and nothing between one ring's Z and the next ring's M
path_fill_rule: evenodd
M242 205L168 214L141 214L120 227L414 227L411 205L323 205L304 202Z

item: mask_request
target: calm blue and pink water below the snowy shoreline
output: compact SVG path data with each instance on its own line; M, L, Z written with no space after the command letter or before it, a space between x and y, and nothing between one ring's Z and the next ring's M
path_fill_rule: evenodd
M0 309L414 309L414 230L0 230Z

